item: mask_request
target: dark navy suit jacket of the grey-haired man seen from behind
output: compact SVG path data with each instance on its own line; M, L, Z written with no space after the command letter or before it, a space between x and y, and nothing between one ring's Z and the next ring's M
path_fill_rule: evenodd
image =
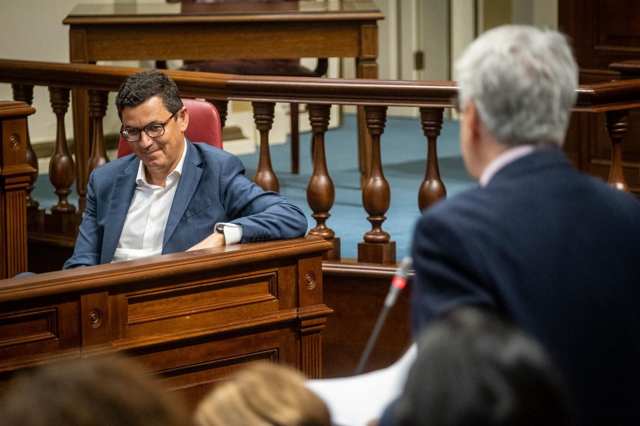
M561 367L582 425L640 424L640 202L547 148L424 211L414 331L488 306Z

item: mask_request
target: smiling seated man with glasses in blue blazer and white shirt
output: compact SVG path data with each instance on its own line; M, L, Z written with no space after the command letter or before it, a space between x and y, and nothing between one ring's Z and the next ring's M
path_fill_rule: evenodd
M244 177L237 157L184 137L189 112L166 75L131 75L116 107L134 154L91 174L76 249L64 269L307 231L303 212Z

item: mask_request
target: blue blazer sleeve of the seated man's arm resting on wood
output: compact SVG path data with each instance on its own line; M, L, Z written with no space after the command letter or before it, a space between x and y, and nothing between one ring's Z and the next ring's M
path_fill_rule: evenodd
M297 238L307 232L302 210L244 177L244 166L233 155L221 167L220 196L229 221L243 228L241 242Z

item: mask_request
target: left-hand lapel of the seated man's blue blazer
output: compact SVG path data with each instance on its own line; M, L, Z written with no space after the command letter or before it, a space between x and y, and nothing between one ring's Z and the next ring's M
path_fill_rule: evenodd
M118 246L118 241L120 241L124 221L127 219L129 206L136 191L138 167L140 167L140 160L134 157L131 164L125 168L122 175L116 177L113 184L107 211L109 219L106 226L104 226L104 236L102 237L102 253L100 255L100 263L102 264L111 262Z

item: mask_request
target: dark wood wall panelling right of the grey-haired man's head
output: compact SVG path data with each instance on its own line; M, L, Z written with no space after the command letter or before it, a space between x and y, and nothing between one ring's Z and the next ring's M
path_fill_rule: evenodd
M640 59L639 20L637 1L559 0L559 29L572 42L580 83L620 79L621 69L609 65ZM640 196L640 111L629 111L624 131L614 115L573 114L565 150L580 170Z

